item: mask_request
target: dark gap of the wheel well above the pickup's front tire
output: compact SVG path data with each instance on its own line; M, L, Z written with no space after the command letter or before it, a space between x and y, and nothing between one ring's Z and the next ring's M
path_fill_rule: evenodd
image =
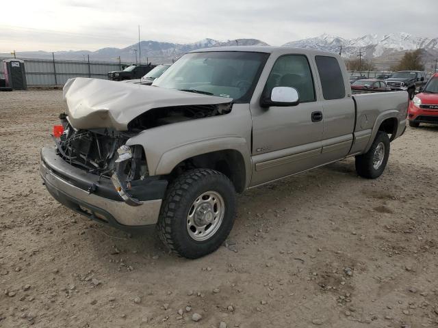
M235 191L242 193L245 189L246 169L242 154L237 150L219 150L207 152L185 159L170 173L170 178L176 178L188 169L203 168L215 169L227 176L233 182Z

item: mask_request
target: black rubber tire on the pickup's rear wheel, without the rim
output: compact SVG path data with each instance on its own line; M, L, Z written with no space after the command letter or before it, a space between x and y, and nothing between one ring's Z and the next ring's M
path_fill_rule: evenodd
M378 167L374 167L374 154L376 153L376 149L379 145L383 144L385 147L383 150L383 161L378 165ZM389 137L386 133L382 131L378 131L376 135L376 139L374 139L370 150L365 154L361 154L356 156L356 172L359 176L368 179L375 179L381 176L383 171L385 171L385 167L388 163L389 159L389 149L390 142ZM378 163L376 163L377 165Z

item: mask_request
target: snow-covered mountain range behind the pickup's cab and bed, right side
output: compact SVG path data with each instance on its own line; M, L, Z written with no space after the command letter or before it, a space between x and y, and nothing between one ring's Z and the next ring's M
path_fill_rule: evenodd
M342 55L344 57L357 55L359 51L365 51L365 57L379 57L397 51L409 51L419 48L426 51L438 51L438 38L422 38L400 32L384 36L366 34L360 38L344 39L324 33L315 38L287 42L283 46L318 49L335 53L339 53L342 46Z

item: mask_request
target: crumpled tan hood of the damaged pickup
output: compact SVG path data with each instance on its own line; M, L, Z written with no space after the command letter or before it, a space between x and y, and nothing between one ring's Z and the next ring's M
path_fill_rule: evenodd
M114 128L118 131L126 131L131 120L150 109L181 105L218 105L233 100L83 77L68 79L63 94L68 107L68 121L73 128Z

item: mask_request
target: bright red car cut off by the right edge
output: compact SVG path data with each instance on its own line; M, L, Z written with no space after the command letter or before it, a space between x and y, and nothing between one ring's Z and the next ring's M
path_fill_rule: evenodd
M413 128L420 126L420 123L438 124L438 73L413 97L408 116L409 126Z

